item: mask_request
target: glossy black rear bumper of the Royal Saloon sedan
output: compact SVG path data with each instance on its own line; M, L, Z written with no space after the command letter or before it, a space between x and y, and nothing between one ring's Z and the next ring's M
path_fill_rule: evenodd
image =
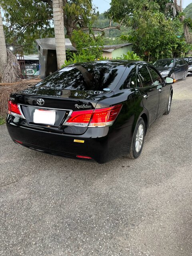
M99 163L104 163L129 153L132 141L131 127L113 129L111 131L109 131L108 127L88 128L86 133L76 136L34 130L18 126L10 120L7 121L10 137L14 141L22 142L22 146L48 154L71 158L77 158L77 155L89 156ZM94 129L105 129L105 135L92 138L91 132L94 132ZM74 140L84 140L84 143L74 142Z

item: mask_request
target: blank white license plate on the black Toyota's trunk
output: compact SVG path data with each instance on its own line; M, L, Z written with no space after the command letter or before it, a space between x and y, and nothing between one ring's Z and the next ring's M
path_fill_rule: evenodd
M36 109L33 114L33 122L36 124L54 125L56 112L52 110Z

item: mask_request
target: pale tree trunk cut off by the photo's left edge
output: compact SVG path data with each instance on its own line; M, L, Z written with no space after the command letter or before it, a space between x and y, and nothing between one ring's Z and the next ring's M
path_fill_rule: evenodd
M0 8L0 49L1 49L1 54L0 54L0 82L1 82L2 75L7 66L7 50L6 50L5 36L4 36L2 16L1 16L1 8Z

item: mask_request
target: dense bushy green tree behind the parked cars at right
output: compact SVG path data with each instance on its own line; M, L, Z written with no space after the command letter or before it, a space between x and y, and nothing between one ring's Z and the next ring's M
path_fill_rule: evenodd
M162 16L161 13L158 15ZM154 62L161 58L180 57L188 51L185 39L177 36L181 27L179 20L162 19L155 27L140 27L121 38L132 42L133 50L144 60Z

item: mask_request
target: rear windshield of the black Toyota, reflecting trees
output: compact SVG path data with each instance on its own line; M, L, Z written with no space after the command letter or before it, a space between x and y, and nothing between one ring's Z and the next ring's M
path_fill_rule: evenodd
M67 66L48 76L36 86L66 90L113 90L126 67L111 62Z

